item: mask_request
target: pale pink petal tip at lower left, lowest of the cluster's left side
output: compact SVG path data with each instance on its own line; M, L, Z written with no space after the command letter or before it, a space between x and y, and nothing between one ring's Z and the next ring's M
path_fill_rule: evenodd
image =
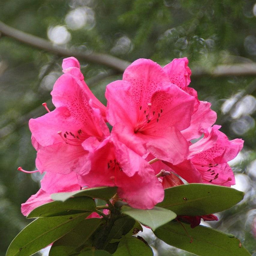
M50 194L40 188L36 194L32 195L25 203L21 204L21 213L27 216L34 208L52 201Z

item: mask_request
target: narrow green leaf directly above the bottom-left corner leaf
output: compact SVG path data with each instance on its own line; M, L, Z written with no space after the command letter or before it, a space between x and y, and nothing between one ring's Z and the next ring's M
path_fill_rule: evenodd
M96 203L90 197L69 198L65 202L54 201L43 204L28 214L27 218L52 217L61 215L71 215L83 212L93 212Z

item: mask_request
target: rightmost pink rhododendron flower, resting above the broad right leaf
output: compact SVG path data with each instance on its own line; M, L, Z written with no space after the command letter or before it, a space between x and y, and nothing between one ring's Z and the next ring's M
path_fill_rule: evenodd
M228 140L219 128L208 128L204 138L190 146L188 160L178 165L165 163L188 182L234 185L235 177L227 162L242 149L243 140Z

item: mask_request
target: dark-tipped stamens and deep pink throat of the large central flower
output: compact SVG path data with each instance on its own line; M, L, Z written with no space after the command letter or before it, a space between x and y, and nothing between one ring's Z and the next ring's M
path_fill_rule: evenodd
M146 129L152 128L152 126L156 126L163 112L162 109L160 109L160 111L153 111L151 103L148 103L147 108L144 110L142 110L142 106L140 106L139 110L139 120L134 127L134 133L143 132Z

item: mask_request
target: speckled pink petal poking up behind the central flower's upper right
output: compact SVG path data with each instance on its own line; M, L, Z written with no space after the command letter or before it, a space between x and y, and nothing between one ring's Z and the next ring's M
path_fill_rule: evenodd
M182 90L190 84L191 70L188 67L188 59L173 59L171 63L164 66L164 71L168 74L170 81Z

